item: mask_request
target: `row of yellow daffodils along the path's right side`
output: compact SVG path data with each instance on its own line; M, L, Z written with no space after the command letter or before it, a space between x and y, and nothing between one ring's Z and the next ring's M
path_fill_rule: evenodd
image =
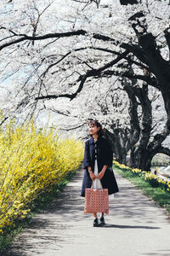
M166 178L163 179L151 172L145 172L138 168L131 168L129 166L122 165L116 160L113 160L113 164L121 168L122 171L133 173L134 176L136 175L136 176L142 177L144 181L150 183L150 185L154 188L160 187L162 190L170 192L170 180L167 180Z

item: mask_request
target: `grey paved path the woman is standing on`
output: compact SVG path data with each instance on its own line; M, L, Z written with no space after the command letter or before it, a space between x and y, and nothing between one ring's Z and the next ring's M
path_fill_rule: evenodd
M110 201L105 227L83 213L82 171L48 210L33 218L3 256L170 256L166 212L116 174L120 192Z

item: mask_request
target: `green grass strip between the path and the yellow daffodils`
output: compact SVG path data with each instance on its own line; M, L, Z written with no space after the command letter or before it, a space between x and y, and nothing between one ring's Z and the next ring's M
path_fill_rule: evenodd
M124 171L121 168L114 166L114 170L118 172L122 177L126 177L131 183L137 186L144 192L144 195L150 197L151 200L165 208L170 214L170 193L162 190L161 188L153 188L149 183L144 181L141 177L134 175L132 172Z

